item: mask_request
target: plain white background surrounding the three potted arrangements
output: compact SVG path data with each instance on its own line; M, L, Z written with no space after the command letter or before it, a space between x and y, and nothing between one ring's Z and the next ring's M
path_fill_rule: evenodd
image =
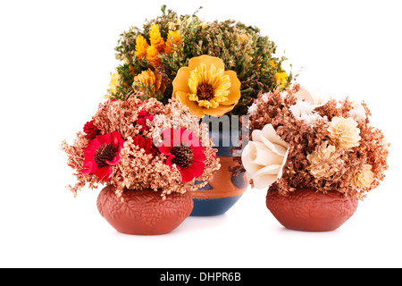
M118 233L78 198L59 151L96 112L117 66L114 46L160 6L205 21L255 25L298 81L364 100L392 143L385 181L337 231L288 231L248 189L227 214L189 217L162 236ZM0 4L1 267L400 267L401 2L2 1Z

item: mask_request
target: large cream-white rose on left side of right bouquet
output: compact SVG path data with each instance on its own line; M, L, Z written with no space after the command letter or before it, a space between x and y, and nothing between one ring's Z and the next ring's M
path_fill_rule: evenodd
M263 130L254 130L241 155L247 171L257 189L267 189L282 176L283 167L288 159L288 144L273 129L272 124Z

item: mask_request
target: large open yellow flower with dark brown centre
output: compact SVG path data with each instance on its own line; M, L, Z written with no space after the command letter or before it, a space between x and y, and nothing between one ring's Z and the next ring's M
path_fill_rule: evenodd
M220 58L193 57L173 80L173 97L188 106L192 114L222 116L240 99L240 81L235 71L225 71Z

